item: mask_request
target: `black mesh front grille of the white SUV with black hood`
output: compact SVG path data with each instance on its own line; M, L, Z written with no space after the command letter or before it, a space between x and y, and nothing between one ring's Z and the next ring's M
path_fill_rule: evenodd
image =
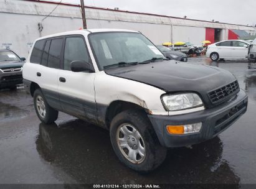
M239 91L239 84L237 81L234 81L230 83L229 85L222 86L221 88L218 88L217 90L211 91L208 93L209 98L211 102L218 103L219 101L222 101L223 99L232 96L233 94L237 93Z

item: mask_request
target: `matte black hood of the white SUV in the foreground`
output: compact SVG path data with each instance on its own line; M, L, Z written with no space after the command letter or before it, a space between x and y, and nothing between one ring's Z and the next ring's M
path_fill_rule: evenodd
M166 92L195 91L208 101L207 93L235 81L229 71L174 60L105 70L108 75L146 83Z

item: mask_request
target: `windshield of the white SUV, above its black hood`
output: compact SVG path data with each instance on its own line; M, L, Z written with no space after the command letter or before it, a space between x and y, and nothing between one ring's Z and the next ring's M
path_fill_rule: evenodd
M140 33L102 32L90 34L89 40L100 70L118 63L140 63L165 58Z

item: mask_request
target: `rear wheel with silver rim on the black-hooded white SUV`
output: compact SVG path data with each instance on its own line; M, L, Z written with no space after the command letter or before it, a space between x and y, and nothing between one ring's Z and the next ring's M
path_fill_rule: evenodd
M51 124L58 118L59 111L49 106L45 101L44 94L39 89L34 92L34 107L38 118L44 124Z

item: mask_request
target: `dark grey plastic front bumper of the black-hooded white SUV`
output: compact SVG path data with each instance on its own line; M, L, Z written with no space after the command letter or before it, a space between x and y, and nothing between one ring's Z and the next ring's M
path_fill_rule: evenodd
M247 110L248 96L240 90L234 98L211 109L178 116L148 114L159 142L165 147L183 147L212 139L231 126ZM192 134L169 134L166 126L202 122L201 130Z

